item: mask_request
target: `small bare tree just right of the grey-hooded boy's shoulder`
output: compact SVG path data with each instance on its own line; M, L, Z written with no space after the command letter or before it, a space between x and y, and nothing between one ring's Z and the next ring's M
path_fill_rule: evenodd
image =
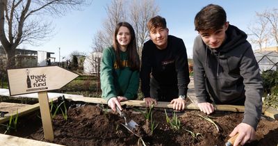
M254 22L252 22L252 24L250 24L250 26L248 26L248 29L251 32L249 34L251 36L249 40L253 44L258 44L261 51L263 44L266 47L269 40L268 21L266 19L263 19L263 17L261 17L259 13L256 13L256 16L258 17L258 19L256 19Z

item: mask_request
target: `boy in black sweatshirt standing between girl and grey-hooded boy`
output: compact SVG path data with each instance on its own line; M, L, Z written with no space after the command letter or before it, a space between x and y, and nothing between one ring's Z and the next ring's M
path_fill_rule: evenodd
M180 38L168 35L165 18L152 17L147 24L149 38L142 49L141 90L147 106L156 101L171 102L183 110L189 72L186 47Z

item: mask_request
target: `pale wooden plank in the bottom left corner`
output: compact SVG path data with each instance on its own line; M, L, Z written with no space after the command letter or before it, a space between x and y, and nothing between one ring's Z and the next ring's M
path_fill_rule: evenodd
M5 134L0 134L0 143L1 143L1 146L10 146L10 145L63 146L63 145L58 145L58 144L55 144L55 143L47 143L47 142L42 142L42 141L39 141L39 140L19 138L17 136L9 136L9 135L5 135Z

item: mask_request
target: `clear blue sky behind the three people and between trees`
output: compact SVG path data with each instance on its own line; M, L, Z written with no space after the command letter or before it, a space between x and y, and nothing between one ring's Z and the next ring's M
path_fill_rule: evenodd
M129 1L129 0L128 0ZM111 0L93 0L90 6L81 11L72 11L65 16L54 17L55 35L38 47L23 44L24 49L54 52L52 55L59 61L60 57L69 56L72 51L92 51L92 38L103 29L106 18L105 6ZM247 32L247 26L256 18L256 12L278 8L277 0L156 0L160 7L158 15L165 17L170 35L182 38L186 44L188 57L192 57L193 41L197 35L194 31L194 17L204 6L214 3L222 6L227 13L227 21ZM253 48L254 49L254 48Z

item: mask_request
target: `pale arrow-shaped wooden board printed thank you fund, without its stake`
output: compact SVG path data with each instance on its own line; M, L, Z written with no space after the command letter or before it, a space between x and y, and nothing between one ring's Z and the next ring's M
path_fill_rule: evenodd
M77 76L58 66L11 69L8 70L10 96L60 89Z

